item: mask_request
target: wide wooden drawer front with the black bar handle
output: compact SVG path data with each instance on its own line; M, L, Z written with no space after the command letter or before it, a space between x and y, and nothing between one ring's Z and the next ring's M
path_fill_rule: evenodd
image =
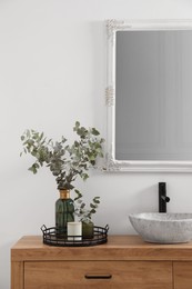
M172 262L38 261L24 263L24 289L172 289Z

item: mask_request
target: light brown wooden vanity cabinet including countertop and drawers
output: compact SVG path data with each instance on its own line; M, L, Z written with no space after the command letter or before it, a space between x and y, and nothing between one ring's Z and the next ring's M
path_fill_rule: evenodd
M52 247L41 237L11 249L11 289L192 289L192 243L109 236L93 247Z

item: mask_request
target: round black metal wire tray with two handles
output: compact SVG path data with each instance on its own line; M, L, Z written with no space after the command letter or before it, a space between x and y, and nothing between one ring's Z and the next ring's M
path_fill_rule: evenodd
M84 239L82 236L67 236L64 232L58 232L55 227L47 228L46 225L41 227L43 243L59 247L85 247L105 243L108 241L109 226L105 228L94 226L94 236L91 239ZM81 240L77 240L80 237ZM79 239L79 238L78 238Z

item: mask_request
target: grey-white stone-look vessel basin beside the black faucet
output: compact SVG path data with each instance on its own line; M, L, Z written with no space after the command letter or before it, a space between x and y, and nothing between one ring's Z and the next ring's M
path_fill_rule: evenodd
M131 213L130 222L146 242L178 243L192 240L192 213Z

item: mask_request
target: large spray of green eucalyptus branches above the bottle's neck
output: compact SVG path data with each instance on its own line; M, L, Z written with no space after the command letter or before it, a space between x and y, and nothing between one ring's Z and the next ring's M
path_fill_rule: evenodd
M61 137L60 141L47 139L43 132L27 130L21 136L22 153L31 155L36 160L29 170L37 173L46 166L55 177L58 189L73 189L72 185L78 177L83 180L89 178L88 170L95 168L97 159L102 158L104 139L95 128L85 129L77 121L73 131L78 134L71 146Z

